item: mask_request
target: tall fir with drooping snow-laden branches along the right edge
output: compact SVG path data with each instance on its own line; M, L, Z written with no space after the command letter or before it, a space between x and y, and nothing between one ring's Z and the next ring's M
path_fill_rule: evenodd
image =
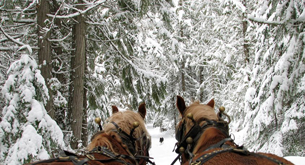
M252 68L235 77L242 84L228 100L243 100L229 110L239 112L232 117L242 119L243 143L251 150L304 155L304 9L302 1L260 1L248 15L256 31Z

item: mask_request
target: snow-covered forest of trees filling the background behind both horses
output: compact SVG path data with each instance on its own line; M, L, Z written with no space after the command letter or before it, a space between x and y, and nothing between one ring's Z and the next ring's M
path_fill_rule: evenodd
M2 0L0 164L82 152L111 105L162 131L225 106L254 151L305 156L302 0Z

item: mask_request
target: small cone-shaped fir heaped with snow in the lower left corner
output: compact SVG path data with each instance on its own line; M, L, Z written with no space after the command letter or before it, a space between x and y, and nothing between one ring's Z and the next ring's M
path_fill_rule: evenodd
M11 64L2 94L6 106L0 123L0 163L23 164L47 159L64 147L63 133L47 114L48 89L33 57Z

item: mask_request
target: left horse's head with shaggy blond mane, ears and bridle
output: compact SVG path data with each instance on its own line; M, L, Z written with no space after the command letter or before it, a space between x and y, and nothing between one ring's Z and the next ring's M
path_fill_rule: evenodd
M92 143L89 144L87 150L92 150L97 146L105 146L116 153L112 143L106 140L107 137L103 135L106 134L118 141L129 155L148 156L151 137L144 125L145 115L146 108L144 103L139 106L138 112L131 110L120 112L117 107L112 106L112 116L106 119L104 130L101 134L93 137Z

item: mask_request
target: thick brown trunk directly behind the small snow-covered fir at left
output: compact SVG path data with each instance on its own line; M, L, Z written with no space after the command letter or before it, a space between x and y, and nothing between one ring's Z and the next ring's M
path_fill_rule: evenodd
M50 14L50 4L47 0L41 0L39 7L37 9L37 34L38 34L38 59L39 64L41 65L41 75L44 77L46 81L46 85L49 89L49 101L47 102L47 105L45 106L46 111L51 116L51 118L54 118L54 109L53 107L53 98L52 98L52 91L50 89L50 79L51 79L51 71L52 71L52 52L51 52L51 45L48 39L50 38L51 34L50 32L43 32L43 27L45 27L45 20L48 19L47 14Z

